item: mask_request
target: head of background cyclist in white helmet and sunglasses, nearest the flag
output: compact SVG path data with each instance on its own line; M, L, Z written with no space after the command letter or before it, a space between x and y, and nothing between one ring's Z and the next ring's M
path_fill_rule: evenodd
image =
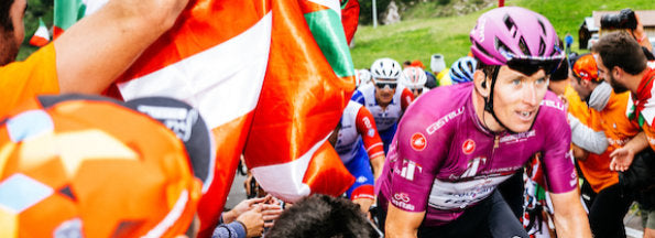
M391 58L379 58L371 65L371 78L375 84L375 99L380 104L390 104L399 80L403 77L401 64Z

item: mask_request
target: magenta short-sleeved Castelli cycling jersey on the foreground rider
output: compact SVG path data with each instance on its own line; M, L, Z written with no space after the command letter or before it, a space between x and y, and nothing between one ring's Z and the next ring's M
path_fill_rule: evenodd
M530 131L493 133L474 112L472 86L439 87L414 101L399 125L376 182L383 203L426 212L424 226L457 219L537 152L543 154L552 193L577 187L570 128L563 102L553 93L546 94Z

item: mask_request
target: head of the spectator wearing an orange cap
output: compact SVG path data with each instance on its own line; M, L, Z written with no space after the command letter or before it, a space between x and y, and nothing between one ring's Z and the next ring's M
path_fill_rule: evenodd
M598 76L598 67L593 55L585 54L574 63L574 80L571 87L576 89L580 98L587 99L593 91L593 88L602 82Z

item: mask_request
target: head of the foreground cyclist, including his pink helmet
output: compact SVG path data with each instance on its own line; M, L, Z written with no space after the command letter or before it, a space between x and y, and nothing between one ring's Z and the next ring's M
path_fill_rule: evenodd
M536 12L504 7L482 14L470 37L479 64L473 75L474 94L494 119L492 125L484 123L491 130L530 130L549 75L564 60L555 29Z

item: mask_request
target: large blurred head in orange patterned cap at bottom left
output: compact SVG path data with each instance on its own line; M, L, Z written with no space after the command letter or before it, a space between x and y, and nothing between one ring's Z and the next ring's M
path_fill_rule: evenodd
M0 230L17 237L185 234L208 176L196 162L214 164L205 153L210 133L188 105L151 102L41 96L0 119L0 194L13 197L0 199L7 208L0 219L13 220Z

